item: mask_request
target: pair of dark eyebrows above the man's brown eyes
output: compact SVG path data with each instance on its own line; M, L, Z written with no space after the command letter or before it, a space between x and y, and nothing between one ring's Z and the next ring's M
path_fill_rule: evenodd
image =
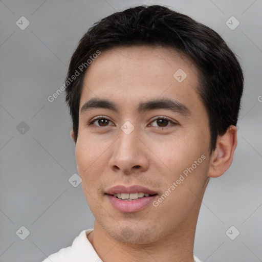
M119 112L118 106L114 102L107 99L92 98L83 104L81 107L81 114L91 110L92 108L105 108L116 113ZM146 102L140 102L137 111L138 113L142 113L156 109L170 110L183 116L188 116L191 113L187 106L172 99L154 99Z

